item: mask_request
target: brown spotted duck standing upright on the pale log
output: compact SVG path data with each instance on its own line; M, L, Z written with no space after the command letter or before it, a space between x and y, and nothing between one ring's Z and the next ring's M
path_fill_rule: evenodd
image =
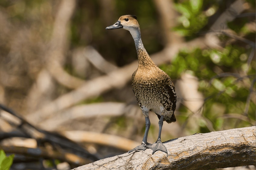
M138 68L132 74L132 90L145 116L145 133L141 145L129 150L146 150L150 148L154 154L157 150L167 153L161 141L163 122L176 122L174 111L176 108L177 94L170 76L161 70L150 58L142 40L140 26L135 15L123 15L116 23L106 29L126 29L134 39L138 55ZM150 128L149 111L156 113L159 119L159 133L157 141L153 144L147 142Z

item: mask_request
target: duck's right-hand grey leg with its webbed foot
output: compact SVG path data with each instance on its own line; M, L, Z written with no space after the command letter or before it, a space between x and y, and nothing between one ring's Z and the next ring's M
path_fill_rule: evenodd
M161 150L161 151L167 153L166 147L161 142L161 131L162 131L162 126L163 126L163 121L164 121L164 116L161 115L161 117L159 119L159 122L158 122L158 124L159 124L159 133L158 133L157 141L154 144L150 144L150 145L146 146L147 148L150 148L150 149L153 150L152 154L154 154L157 150ZM168 153L167 153L167 155L168 155Z

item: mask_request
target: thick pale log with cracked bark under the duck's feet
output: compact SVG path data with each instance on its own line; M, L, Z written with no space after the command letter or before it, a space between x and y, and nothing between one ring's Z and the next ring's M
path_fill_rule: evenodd
M101 159L73 170L86 169L213 169L255 165L255 126L215 131L164 142L166 153L151 149Z

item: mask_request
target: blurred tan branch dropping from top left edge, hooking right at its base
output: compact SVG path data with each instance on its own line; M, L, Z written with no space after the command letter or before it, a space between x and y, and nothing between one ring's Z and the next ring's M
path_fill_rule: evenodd
M68 45L68 31L70 20L76 7L76 1L61 1L56 19L53 25L53 33L49 42L49 51L45 54L47 60L47 70L60 84L68 88L77 88L85 81L73 77L62 68L66 60L65 50Z

